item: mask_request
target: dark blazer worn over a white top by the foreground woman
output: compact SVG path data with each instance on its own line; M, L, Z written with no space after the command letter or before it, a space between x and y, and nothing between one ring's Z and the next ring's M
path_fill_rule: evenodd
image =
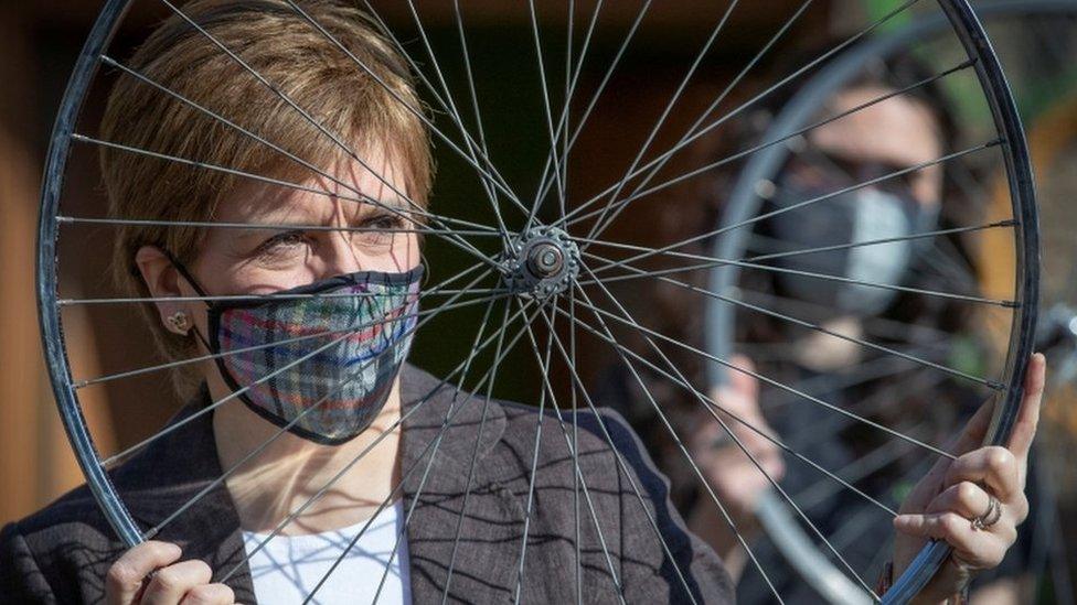
M402 439L405 511L415 506L407 529L414 602L441 599L477 446L479 458L449 596L462 603L512 599L535 440L541 435L522 602L575 603L576 490L566 440L566 431L572 435L572 425L566 422L563 428L550 410L540 423L535 408L501 401L484 406L483 398L458 392L412 366L403 370L402 391L406 414ZM190 415L205 401L203 396L178 418ZM160 522L221 476L210 415L156 441L113 473L124 503L146 528ZM428 445L446 418L450 420L449 428L435 454L435 447ZM607 441L604 425L620 453L623 468ZM579 473L589 496L580 490L578 497L584 602L618 602L610 566L628 603L733 602L732 583L721 561L684 529L670 505L665 478L654 469L620 417L611 411L603 411L599 417L580 412L578 450ZM426 474L431 454L434 462ZM415 472L408 473L416 464ZM600 534L594 518L598 519ZM665 547L658 540L655 529L661 531ZM156 539L180 544L185 559L204 560L215 577L241 565L228 584L237 601L255 602L239 520L225 487L213 488L167 525ZM40 512L3 528L0 602L99 602L105 573L124 550L87 488L79 487Z

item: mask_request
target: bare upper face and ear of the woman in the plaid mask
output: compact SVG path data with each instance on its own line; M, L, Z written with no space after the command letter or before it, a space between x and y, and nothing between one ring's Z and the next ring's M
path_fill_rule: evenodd
M363 156L392 187L359 162L342 162L335 170L326 172L359 191L359 195L323 176L311 177L301 185L333 196L278 185L242 188L220 205L213 220L252 227L206 229L199 255L188 270L206 294L213 296L267 294L356 271L414 269L419 264L418 238L415 233L398 230L417 227L407 218L415 216L408 214L415 208L393 191L407 191L403 164L388 161L380 150ZM335 195L370 197L378 204ZM267 229L256 225L280 227ZM156 248L143 247L136 260L154 296L199 295ZM158 309L167 329L170 328L167 317L182 311L193 321L194 328L209 337L204 303L166 302L159 303Z

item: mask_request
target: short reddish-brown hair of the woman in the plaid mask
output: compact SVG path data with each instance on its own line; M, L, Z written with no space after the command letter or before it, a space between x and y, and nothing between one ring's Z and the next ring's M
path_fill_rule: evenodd
M180 10L360 158L362 149L381 145L402 166L407 196L425 206L434 173L430 141L403 57L358 9L335 0L308 0L301 8L334 40L282 0L194 0ZM332 173L346 160L330 137L183 17L164 20L127 66L320 171ZM317 174L128 74L119 76L109 94L100 138L296 184ZM114 218L211 222L223 199L254 183L107 147L100 152L100 168ZM148 294L135 263L139 248L157 246L189 263L204 235L193 227L145 225L124 225L117 233L113 277L120 290L137 296ZM163 329L152 304L143 311L166 357L177 359L194 350L191 338Z

